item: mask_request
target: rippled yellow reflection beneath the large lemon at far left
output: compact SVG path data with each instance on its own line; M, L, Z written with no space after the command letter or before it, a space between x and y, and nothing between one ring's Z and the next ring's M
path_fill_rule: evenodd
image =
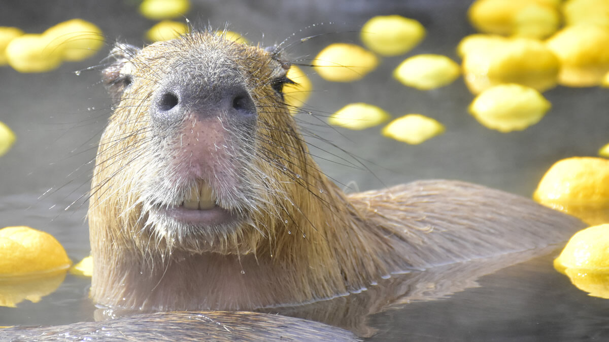
M0 306L16 307L17 304L25 299L33 303L39 302L44 296L57 290L65 277L66 270L33 279L6 279L0 277Z

